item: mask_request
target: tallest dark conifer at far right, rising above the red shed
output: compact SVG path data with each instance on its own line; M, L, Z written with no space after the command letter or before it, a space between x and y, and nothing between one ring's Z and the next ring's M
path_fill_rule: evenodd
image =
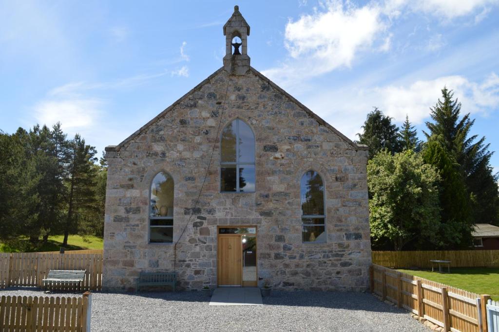
M428 139L439 142L459 163L468 193L472 199L475 223L499 224L498 174L493 174L490 159L493 152L485 137L470 131L475 120L470 113L460 118L461 103L453 99L452 90L442 89L442 100L431 108L433 122L426 122Z

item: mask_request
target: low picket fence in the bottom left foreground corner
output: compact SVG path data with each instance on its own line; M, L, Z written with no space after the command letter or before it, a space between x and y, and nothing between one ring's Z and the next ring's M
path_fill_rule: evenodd
M0 298L0 331L90 332L92 295Z

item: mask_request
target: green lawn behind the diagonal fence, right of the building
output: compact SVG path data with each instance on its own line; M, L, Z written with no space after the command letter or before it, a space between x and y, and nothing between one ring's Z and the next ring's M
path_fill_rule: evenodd
M489 294L499 300L499 268L451 268L451 273L398 270L477 294Z

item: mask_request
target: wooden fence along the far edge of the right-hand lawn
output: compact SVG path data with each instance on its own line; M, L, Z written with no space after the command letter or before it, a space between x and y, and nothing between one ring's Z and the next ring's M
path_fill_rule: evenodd
M373 251L372 262L389 268L431 268L430 260L451 261L451 267L499 267L499 250Z

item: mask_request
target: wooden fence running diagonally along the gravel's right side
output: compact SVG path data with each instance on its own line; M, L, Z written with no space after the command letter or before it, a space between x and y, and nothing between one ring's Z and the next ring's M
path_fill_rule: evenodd
M371 292L383 301L451 332L487 331L487 295L463 291L379 265L371 268ZM484 315L482 315L484 313Z

